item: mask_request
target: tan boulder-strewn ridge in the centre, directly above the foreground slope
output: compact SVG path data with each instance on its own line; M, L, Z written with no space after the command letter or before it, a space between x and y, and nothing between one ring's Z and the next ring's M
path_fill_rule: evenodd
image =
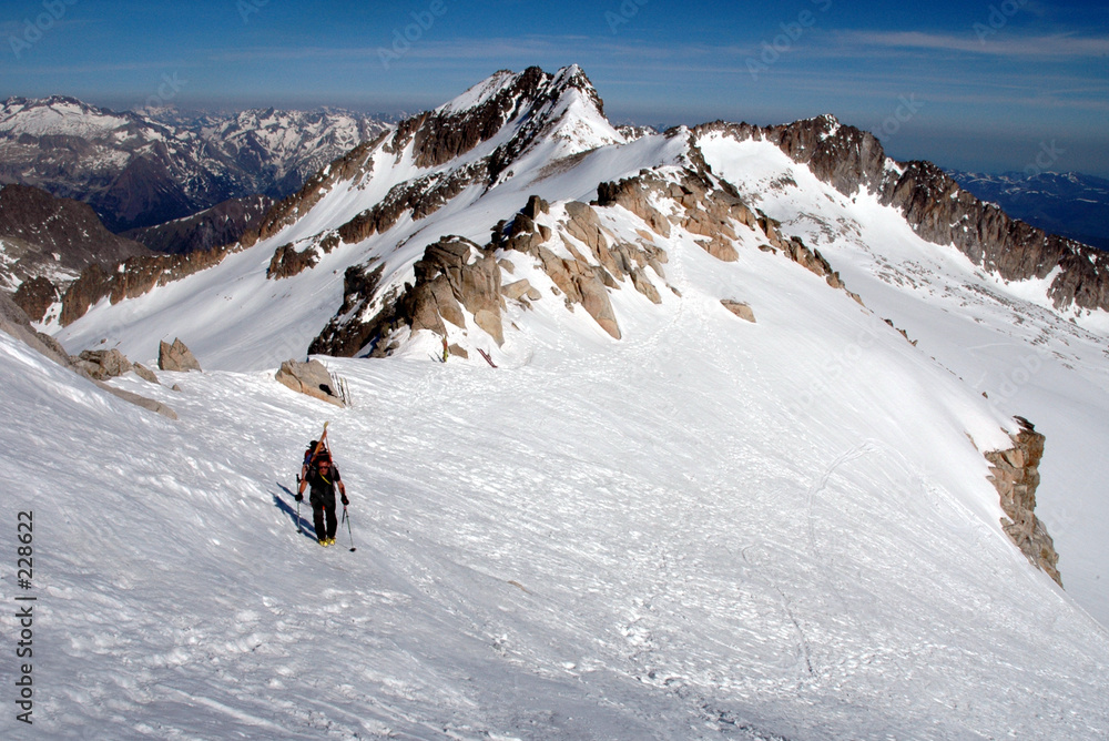
M647 271L665 281L663 245L676 230L689 234L713 257L734 262L739 257L736 245L742 242L739 232L745 229L760 242L759 248L781 254L862 303L818 252L797 237L782 237L777 222L746 206L733 189L704 169L690 166L668 174L644 170L633 177L601 183L597 192L592 203L569 201L553 210L532 195L511 221L497 224L485 245L457 235L440 237L415 264L415 283L406 283L400 291L394 287L377 295L378 281L359 283L364 271L349 270L343 305L308 352L384 356L403 342L398 335L403 328L410 334L428 329L446 339L447 324L468 328L464 308L476 326L502 344L505 302L529 308L542 296L527 280L506 283L503 273L513 272L512 262L506 260L510 253L531 257L568 309L581 306L598 326L620 339L610 291L630 284L652 303L661 303ZM633 240L602 220L603 213L615 207L642 221L643 227ZM746 304L734 300L722 303L737 316L754 319Z

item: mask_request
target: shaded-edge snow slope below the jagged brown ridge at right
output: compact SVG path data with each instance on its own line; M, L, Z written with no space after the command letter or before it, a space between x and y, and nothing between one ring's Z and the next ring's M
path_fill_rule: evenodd
M700 142L714 172L818 247L867 306L1007 415L1047 436L1037 516L1067 590L1109 625L1109 317L1060 315L1050 281L1006 284L952 246L924 242L893 209L847 199L765 142Z

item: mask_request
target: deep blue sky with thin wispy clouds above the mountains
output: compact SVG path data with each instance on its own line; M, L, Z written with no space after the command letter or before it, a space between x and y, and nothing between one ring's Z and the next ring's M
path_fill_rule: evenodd
M570 63L618 123L767 124L831 112L899 159L1109 176L1103 0L4 0L0 9L0 97L61 93L114 109L415 112L499 69Z

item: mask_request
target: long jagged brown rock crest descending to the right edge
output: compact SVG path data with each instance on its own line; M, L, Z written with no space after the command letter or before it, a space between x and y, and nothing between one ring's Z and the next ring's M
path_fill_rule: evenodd
M711 132L771 141L845 195L865 187L884 205L899 209L922 238L955 244L1006 281L1045 278L1058 268L1048 290L1057 308L1109 311L1109 253L1010 219L930 162L894 165L873 134L834 116L769 128L718 121L698 126L694 135Z

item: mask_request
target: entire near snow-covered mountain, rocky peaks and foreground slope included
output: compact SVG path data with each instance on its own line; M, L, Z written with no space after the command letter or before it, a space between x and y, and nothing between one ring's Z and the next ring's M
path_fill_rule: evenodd
M59 493L43 722L1105 735L1102 263L945 177L832 118L628 135L581 70L532 68L208 263L85 281L41 327L70 352L179 336L207 373L116 382L171 422L0 336L3 475ZM348 356L352 408L274 379L309 346ZM356 552L294 537L325 419ZM1025 477L1067 591L989 476Z

